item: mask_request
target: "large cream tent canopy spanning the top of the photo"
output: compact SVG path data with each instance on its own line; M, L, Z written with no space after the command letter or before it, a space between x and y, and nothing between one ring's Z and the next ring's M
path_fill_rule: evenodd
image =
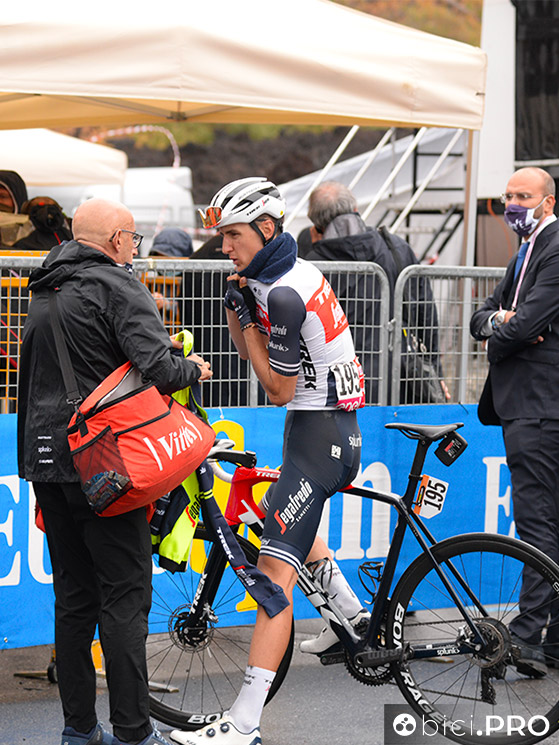
M329 0L33 5L2 8L0 128L481 126L480 49Z

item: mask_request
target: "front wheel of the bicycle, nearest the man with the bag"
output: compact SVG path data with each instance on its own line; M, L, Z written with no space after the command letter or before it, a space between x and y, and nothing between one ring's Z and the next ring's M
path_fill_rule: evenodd
M256 564L258 548L242 536L237 539L248 561ZM211 545L206 529L197 527L186 571L173 574L159 570L153 581L147 640L150 713L155 719L184 730L199 729L216 721L233 704L243 683L256 619L256 604L227 564L212 605L215 622L194 646L181 640L177 620L180 624L180 614L188 611L192 603ZM246 624L228 626L227 617L236 613L239 603L254 609L243 612ZM289 645L266 703L283 683L293 642L292 622Z

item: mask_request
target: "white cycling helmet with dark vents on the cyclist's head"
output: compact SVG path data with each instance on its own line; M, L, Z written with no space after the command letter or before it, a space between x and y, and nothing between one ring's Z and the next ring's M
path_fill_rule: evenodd
M262 215L277 221L285 215L285 199L271 181L263 176L251 176L226 184L205 212L198 211L205 228L221 228L236 222L251 224Z

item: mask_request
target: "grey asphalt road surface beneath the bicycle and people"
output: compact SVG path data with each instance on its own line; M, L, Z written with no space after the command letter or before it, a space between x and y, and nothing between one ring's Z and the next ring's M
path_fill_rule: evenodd
M298 623L297 649L320 625L320 619ZM46 677L14 675L46 672L50 655L49 647L0 651L0 745L60 745L57 686ZM98 716L108 724L102 679L98 694ZM263 745L383 745L384 704L401 701L393 685L364 686L343 665L323 667L314 656L297 651L283 686L264 710ZM167 725L158 726L163 736L169 733Z

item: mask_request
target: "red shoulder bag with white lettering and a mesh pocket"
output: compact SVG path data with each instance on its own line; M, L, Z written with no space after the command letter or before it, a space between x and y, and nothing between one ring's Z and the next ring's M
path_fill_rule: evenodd
M148 505L177 487L214 440L209 425L143 383L130 362L92 391L68 425L83 491L104 516Z

